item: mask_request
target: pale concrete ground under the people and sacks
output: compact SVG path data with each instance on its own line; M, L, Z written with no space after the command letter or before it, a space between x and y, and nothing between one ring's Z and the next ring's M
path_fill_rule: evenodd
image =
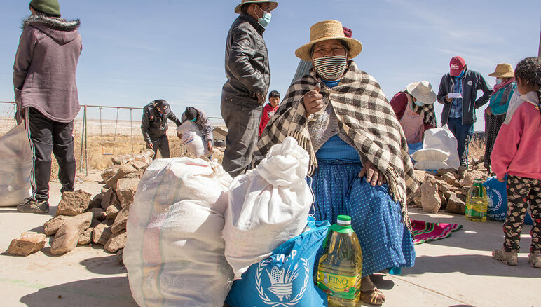
M96 194L100 176L81 177L76 189ZM49 214L22 214L0 208L0 250L24 231L43 231L60 200L60 184L51 184ZM402 275L378 275L384 306L541 306L541 269L526 262L530 226L523 228L518 266L492 259L502 245L502 223L474 223L455 214L410 210L411 219L462 224L451 237L416 245L416 265ZM28 257L0 254L2 306L137 306L123 266L101 246L78 246L55 257L50 245Z

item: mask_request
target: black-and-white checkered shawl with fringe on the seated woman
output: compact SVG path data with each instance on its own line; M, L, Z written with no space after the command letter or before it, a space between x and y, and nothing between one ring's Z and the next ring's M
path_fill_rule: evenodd
M310 142L308 119L302 101L303 95L313 90L316 83L322 83L316 78L315 71L311 69L310 74L289 87L280 109L270 119L257 143L252 165L257 165L265 158L271 146L291 136L310 154L308 175L313 174L317 160ZM402 207L402 222L411 229L406 190L413 193L418 186L406 137L379 84L372 76L360 71L351 60L340 84L332 90L322 86L320 93L324 105L322 111L314 116L320 116L327 104L332 104L339 127L353 140L362 161L371 161L385 174L390 194Z

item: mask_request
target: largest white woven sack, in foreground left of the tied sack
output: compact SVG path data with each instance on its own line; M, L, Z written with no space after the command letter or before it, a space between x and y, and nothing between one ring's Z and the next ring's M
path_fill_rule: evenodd
M123 261L139 306L223 306L233 278L224 257L231 176L201 159L154 161L130 207Z

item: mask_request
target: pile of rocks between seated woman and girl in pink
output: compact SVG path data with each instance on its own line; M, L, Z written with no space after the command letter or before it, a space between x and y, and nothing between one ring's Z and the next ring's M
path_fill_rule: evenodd
M416 170L415 174L420 189L413 195L408 195L408 203L429 213L445 210L464 214L467 193L474 179L484 180L487 177L482 170L468 171L463 166L460 166L458 171L442 168L437 172Z

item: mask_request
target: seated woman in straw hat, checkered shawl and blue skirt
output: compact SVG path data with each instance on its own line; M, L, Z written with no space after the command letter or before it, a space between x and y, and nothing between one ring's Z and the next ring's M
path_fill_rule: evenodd
M287 90L252 163L288 136L309 153L315 217L331 223L338 214L352 217L363 252L360 297L381 305L385 296L369 276L415 261L406 190L417 185L404 132L385 94L351 60L361 50L336 20L310 28L310 43L295 55L314 67Z

